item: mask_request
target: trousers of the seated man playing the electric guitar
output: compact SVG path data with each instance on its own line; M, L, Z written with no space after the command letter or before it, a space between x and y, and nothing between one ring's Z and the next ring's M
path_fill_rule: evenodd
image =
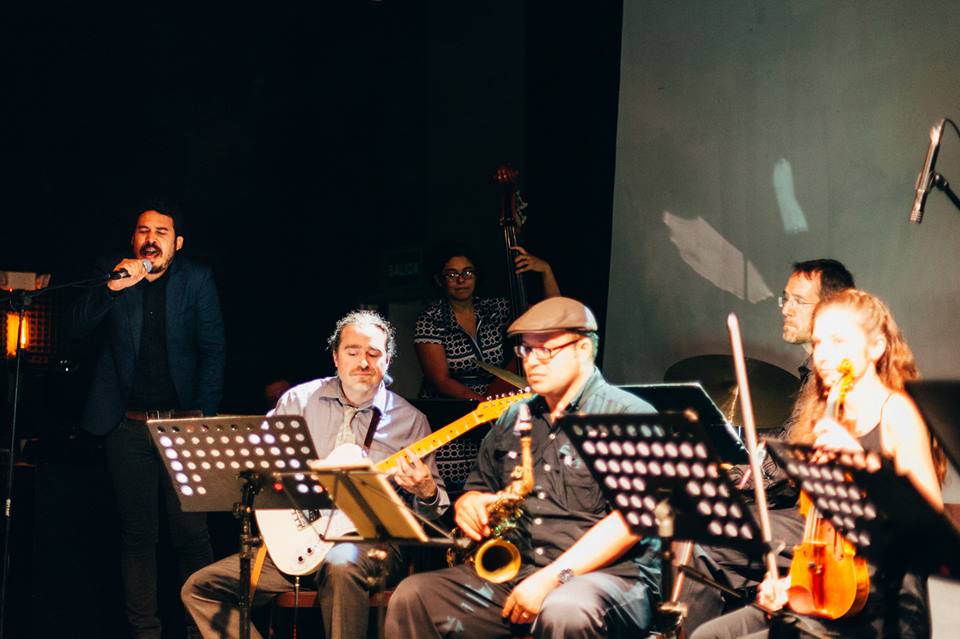
M315 582L327 639L365 639L370 609L370 585L367 576L377 572L375 560L367 551L375 544L342 543L334 546L313 575L301 579ZM388 547L387 574L396 573L400 553ZM267 555L254 593L253 605L270 602L277 595L293 590L293 578L280 572ZM193 573L183 585L180 597L193 616L204 639L240 636L240 556L231 555ZM256 628L250 636L259 639Z

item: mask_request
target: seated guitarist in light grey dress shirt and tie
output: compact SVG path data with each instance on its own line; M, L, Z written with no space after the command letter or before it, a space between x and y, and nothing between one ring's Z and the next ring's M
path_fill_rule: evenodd
M337 323L328 343L337 375L290 389L270 414L302 415L321 458L347 444L366 448L370 460L377 463L430 434L423 413L384 384L395 350L393 327L386 320L371 311L354 311ZM409 494L415 510L436 519L450 505L436 462L432 455L423 461L412 452L407 457L401 459L394 481ZM315 573L328 639L367 636L367 577L377 571L375 560L367 555L370 549L370 544L339 543ZM396 572L401 563L399 549L388 547L388 571ZM233 555L197 571L184 584L183 603L206 639L239 636L239 581L239 558ZM290 590L292 578L268 556L253 604ZM251 637L259 637L255 628Z

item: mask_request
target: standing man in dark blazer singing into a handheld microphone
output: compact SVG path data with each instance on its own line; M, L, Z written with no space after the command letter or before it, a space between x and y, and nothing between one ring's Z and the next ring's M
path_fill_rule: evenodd
M181 512L144 425L153 417L215 415L223 392L217 290L209 268L177 256L183 242L183 218L175 207L141 207L132 255L112 269L124 276L91 288L71 317L74 337L104 333L82 426L104 436L120 515L126 615L136 639L160 639L161 495L182 578L213 561L206 515ZM110 264L101 263L100 272Z

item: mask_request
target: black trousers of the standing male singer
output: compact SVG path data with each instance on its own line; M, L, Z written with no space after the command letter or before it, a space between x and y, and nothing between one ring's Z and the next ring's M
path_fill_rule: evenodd
M120 514L120 570L127 621L135 639L160 639L160 500L164 501L181 580L213 562L207 515L180 510L176 492L143 422L121 422L105 437L104 444ZM189 623L192 625L192 621Z

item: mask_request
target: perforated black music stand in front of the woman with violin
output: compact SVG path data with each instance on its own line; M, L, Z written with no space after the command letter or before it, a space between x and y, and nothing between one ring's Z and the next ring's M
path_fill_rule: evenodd
M767 441L786 473L858 552L877 563L960 575L960 531L876 452L817 450ZM900 543L904 542L904 543ZM894 554L896 555L894 557Z

